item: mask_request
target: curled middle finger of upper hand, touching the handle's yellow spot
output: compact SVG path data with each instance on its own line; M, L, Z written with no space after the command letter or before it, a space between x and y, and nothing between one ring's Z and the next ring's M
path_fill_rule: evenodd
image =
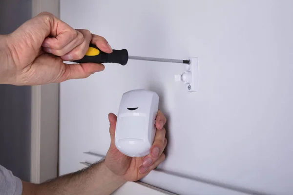
M85 53L88 50L88 45L91 40L91 33L88 30L79 29L78 30L83 35L83 42L70 50L66 55L62 56L61 59L64 61L78 60L84 58Z

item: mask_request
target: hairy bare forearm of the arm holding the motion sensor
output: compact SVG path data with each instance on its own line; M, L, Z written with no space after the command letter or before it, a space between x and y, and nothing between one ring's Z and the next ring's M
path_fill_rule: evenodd
M39 185L23 183L23 195L110 195L124 183L103 161Z

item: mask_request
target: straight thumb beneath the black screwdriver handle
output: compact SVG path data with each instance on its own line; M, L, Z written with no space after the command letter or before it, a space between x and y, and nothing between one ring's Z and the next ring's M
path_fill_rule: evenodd
M96 63L64 64L64 70L57 80L63 82L68 79L87 78L91 74L104 69L103 64Z

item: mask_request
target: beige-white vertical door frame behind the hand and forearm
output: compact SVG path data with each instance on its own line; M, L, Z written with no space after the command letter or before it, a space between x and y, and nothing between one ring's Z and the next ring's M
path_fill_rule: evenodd
M32 17L47 11L59 18L59 0L32 0ZM32 86L31 179L58 176L59 84Z

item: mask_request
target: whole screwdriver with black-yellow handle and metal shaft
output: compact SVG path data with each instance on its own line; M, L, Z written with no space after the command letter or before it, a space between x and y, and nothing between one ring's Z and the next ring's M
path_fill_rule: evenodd
M110 54L101 51L96 45L90 44L84 58L79 60L73 60L77 63L118 63L121 65L126 65L128 59L135 60L146 60L146 61L161 61L161 62L172 62L172 63L183 63L189 64L190 60L184 59L163 59L163 58L149 58L140 56L128 56L128 51L126 49L115 50Z

